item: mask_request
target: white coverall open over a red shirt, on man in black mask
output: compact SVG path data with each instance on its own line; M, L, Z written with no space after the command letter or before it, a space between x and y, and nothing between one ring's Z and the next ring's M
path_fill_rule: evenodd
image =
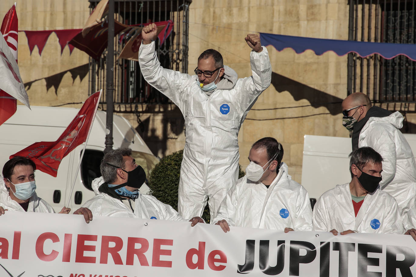
M367 194L355 217L349 183L337 185L319 197L312 221L314 231L404 234L396 200L379 187L372 195Z

